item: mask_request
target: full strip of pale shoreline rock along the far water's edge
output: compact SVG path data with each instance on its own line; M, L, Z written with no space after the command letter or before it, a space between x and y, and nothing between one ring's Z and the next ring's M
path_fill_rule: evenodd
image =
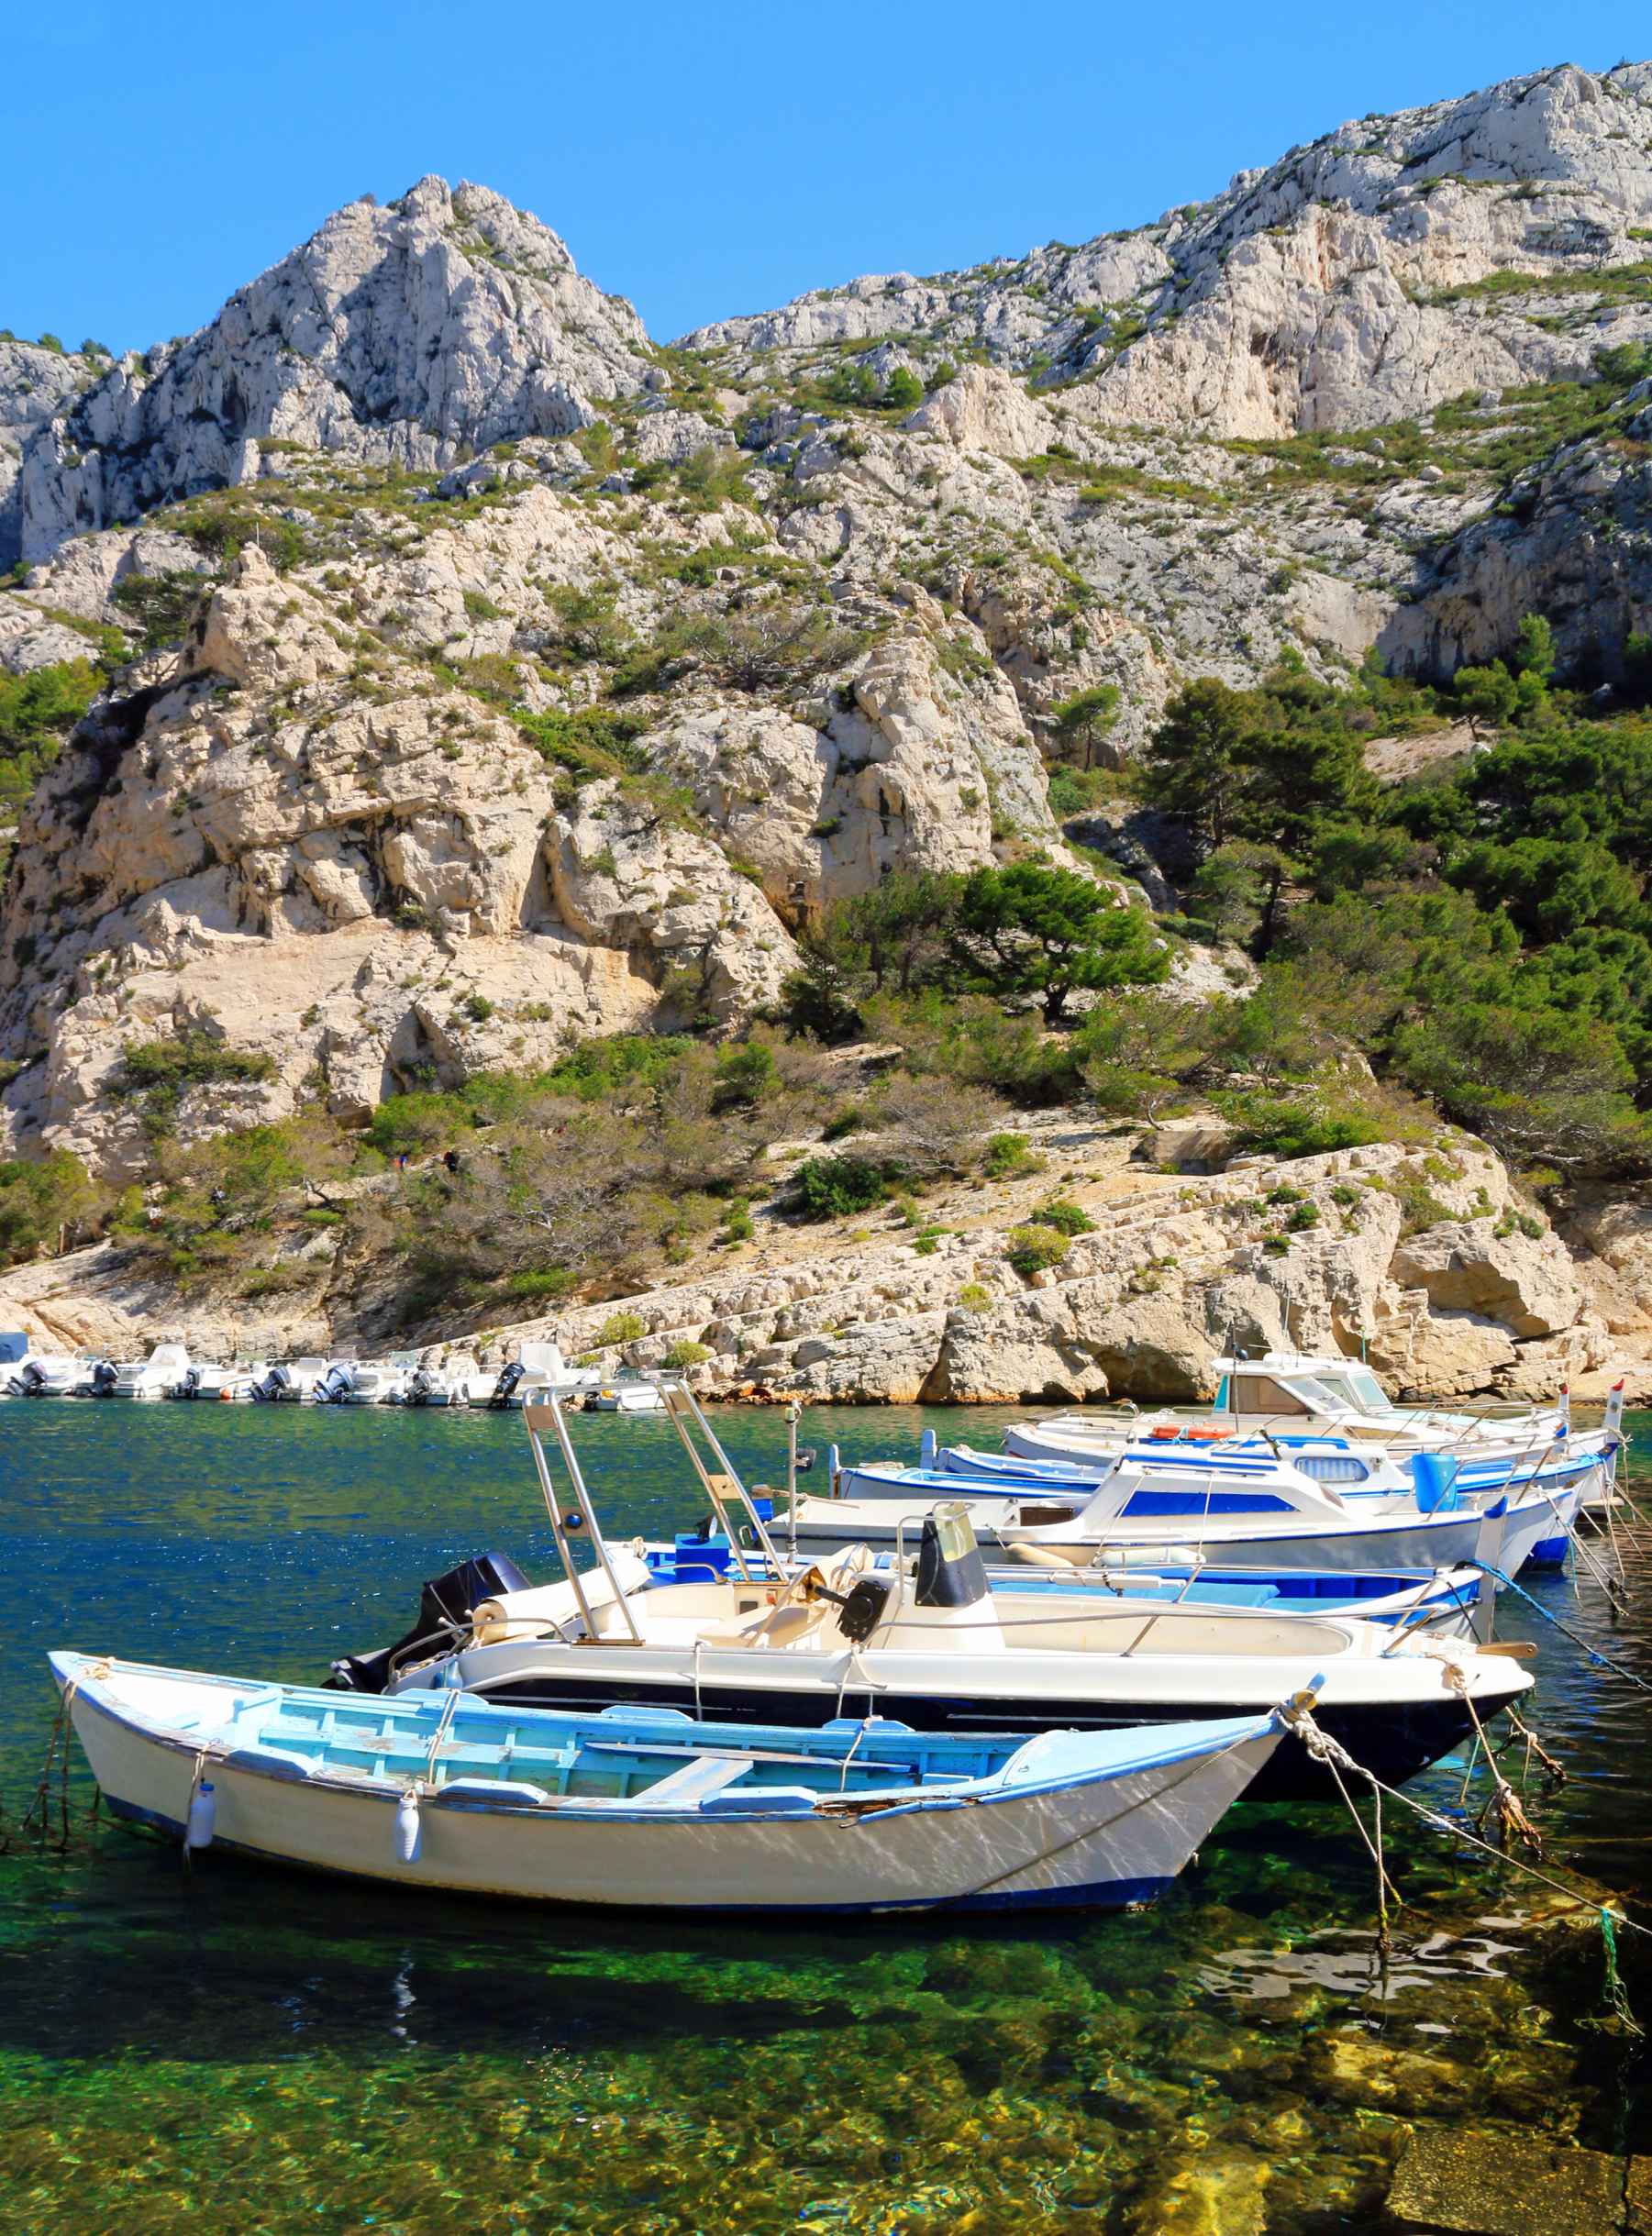
M751 1402L1187 1400L1209 1395L1209 1359L1229 1344L1364 1355L1390 1389L1426 1398L1547 1398L1560 1382L1598 1398L1618 1375L1652 1395L1652 1225L1601 1210L1594 1245L1583 1230L1567 1243L1466 1136L1205 1176L1142 1163L1174 1138L1075 1114L1046 1116L1033 1138L1048 1158L1037 1178L925 1198L948 1228L932 1248L894 1214L798 1228L769 1212L751 1243L639 1295L514 1326L434 1321L420 1348L503 1364L554 1337L568 1355L651 1368L697 1344L695 1389ZM1024 1281L1006 1237L1053 1183L1095 1228ZM1294 1201L1270 1203L1276 1190ZM1415 1228L1424 1190L1442 1216ZM235 1306L181 1297L130 1250L83 1250L0 1277L0 1326L121 1355L161 1337L201 1355L407 1344L362 1317L371 1283L338 1263L333 1237L304 1252L308 1292ZM617 1310L644 1333L601 1346Z

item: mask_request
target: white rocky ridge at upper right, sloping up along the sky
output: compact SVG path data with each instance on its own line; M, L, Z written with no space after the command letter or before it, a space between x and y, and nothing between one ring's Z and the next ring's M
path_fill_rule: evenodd
M1516 309L1431 295L1643 257L1650 125L1650 65L1563 65L1341 125L1140 233L934 280L856 280L689 340L753 362L919 331L1013 369L1053 360L1051 385L1080 376L1062 402L1109 425L1375 427L1464 389L1587 373L1601 335L1531 324L1565 309L1540 291Z

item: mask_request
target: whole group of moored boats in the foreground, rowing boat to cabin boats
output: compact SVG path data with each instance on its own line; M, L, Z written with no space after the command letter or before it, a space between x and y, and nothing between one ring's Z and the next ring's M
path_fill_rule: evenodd
M1621 1393L1402 1411L1348 1362L1218 1362L1209 1411L747 1491L653 1384L706 1514L610 1543L568 1409L523 1422L561 1576L423 1585L322 1684L83 1652L54 1675L112 1811L186 1849L675 1910L1133 1905L1241 1798L1402 1784L1531 1688L1496 1592L1618 1500ZM1594 1556L1589 1554L1589 1561Z

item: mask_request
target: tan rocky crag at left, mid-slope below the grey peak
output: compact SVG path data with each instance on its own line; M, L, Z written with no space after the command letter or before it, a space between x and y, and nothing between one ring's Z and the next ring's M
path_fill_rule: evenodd
M246 1122L317 1084L355 1111L548 1064L668 1020L684 973L718 1017L778 993L796 950L720 847L613 783L557 809L510 724L393 662L364 698L338 635L248 550L199 642L36 794L0 932L0 1038L45 1049L7 1091L13 1138L136 1169L112 1091L134 1040L268 1055Z

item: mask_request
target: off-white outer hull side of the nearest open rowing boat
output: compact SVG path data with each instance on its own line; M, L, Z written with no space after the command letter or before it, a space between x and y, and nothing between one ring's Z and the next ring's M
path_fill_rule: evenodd
M76 1686L69 1713L112 1813L183 1838L199 1773L188 1737L134 1728L96 1686ZM1276 1728L1234 1737L1229 1724L1225 1744L1167 1735L1160 1760L1120 1775L972 1804L937 1791L854 1816L601 1816L427 1793L411 1860L398 1847L398 1787L351 1791L230 1755L210 1762L212 1847L420 1889L601 1907L1122 1907L1176 1878L1274 1746Z

